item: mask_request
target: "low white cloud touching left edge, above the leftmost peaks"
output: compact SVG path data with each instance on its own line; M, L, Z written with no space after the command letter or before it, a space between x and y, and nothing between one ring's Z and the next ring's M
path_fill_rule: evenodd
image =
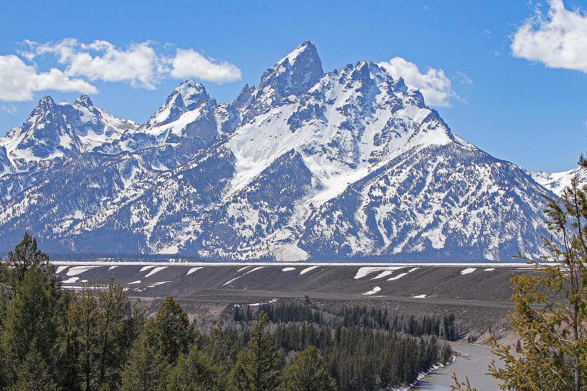
M71 78L61 70L51 68L38 72L35 66L26 65L15 55L0 55L0 99L11 101L32 100L37 91L97 93L95 86L82 79Z

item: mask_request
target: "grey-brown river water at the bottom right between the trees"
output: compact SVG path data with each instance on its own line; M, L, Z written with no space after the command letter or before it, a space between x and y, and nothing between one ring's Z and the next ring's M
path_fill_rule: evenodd
M478 391L498 391L500 389L494 377L485 375L491 360L495 358L491 354L489 346L455 343L452 347L455 351L467 353L467 358L457 357L451 365L439 368L430 375L424 376L412 390L450 391L450 385L454 384L453 372L462 382L465 381L465 376L468 376L471 387L476 387Z

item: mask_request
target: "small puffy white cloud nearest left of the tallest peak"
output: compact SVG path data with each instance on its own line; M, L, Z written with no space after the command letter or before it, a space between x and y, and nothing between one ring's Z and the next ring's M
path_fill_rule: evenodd
M177 49L171 59L171 77L176 79L197 79L209 82L234 82L242 78L241 70L229 62L214 63L193 49Z

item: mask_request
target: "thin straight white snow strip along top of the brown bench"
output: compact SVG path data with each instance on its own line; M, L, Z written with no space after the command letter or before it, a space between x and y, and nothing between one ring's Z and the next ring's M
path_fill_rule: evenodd
M56 266L238 266L238 267L252 267L252 266L279 266L279 267L302 267L302 266L342 266L342 267L478 267L478 268L534 268L534 264L516 263L516 262L420 262L420 263L353 263L353 262L153 262L153 261L50 261ZM539 262L539 265L553 265L551 262Z

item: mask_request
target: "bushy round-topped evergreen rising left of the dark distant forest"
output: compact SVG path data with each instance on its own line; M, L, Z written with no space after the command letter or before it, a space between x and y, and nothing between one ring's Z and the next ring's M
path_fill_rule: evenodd
M173 296L167 296L161 303L154 327L161 339L163 354L170 363L176 362L180 353L187 353L194 342L194 328Z

